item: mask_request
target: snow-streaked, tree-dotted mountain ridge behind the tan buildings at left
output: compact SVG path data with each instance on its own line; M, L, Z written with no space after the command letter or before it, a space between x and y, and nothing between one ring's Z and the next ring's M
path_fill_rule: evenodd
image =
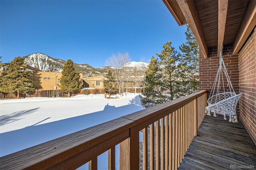
M61 72L66 63L63 59L54 59L43 53L32 53L24 56L24 58L28 65L42 71ZM104 75L108 72L108 67L94 68L89 64L74 63L74 68L78 73L83 73L85 76Z

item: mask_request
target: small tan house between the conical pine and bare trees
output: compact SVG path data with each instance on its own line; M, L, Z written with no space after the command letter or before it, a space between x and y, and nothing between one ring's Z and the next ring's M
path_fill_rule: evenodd
M104 88L103 85L104 76L93 76L93 77L85 77L83 78L84 81L84 88L95 88L95 89L101 89Z

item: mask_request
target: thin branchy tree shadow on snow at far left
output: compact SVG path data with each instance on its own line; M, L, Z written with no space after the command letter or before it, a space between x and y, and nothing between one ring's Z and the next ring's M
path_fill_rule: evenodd
M34 108L34 109L29 109L29 110L24 110L24 111L17 111L8 115L2 115L0 116L0 127L3 125L6 125L8 123L13 123L15 121L20 120L22 116L28 115L30 113L35 112L39 107Z

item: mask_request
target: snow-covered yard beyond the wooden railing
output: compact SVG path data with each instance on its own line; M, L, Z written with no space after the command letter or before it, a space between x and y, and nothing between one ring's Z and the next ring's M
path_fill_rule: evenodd
M113 96L114 97L114 96ZM119 96L120 97L120 96ZM0 156L144 109L138 94L120 99L104 95L0 100ZM118 160L118 146L116 159ZM107 168L107 154L98 157ZM118 161L117 165L118 168ZM85 167L87 169L87 166Z

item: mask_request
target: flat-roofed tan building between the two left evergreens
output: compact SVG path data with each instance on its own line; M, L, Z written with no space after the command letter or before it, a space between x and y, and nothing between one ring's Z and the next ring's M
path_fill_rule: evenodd
M37 73L37 75L36 75ZM45 72L45 71L37 71L33 74L33 78L37 79L37 76L40 76L40 81L41 81L41 90L54 90L54 87L56 86L56 90L60 90L60 81L61 81L61 72ZM82 73L77 73L80 75L80 79L82 79ZM38 80L35 80L36 82L39 83Z

